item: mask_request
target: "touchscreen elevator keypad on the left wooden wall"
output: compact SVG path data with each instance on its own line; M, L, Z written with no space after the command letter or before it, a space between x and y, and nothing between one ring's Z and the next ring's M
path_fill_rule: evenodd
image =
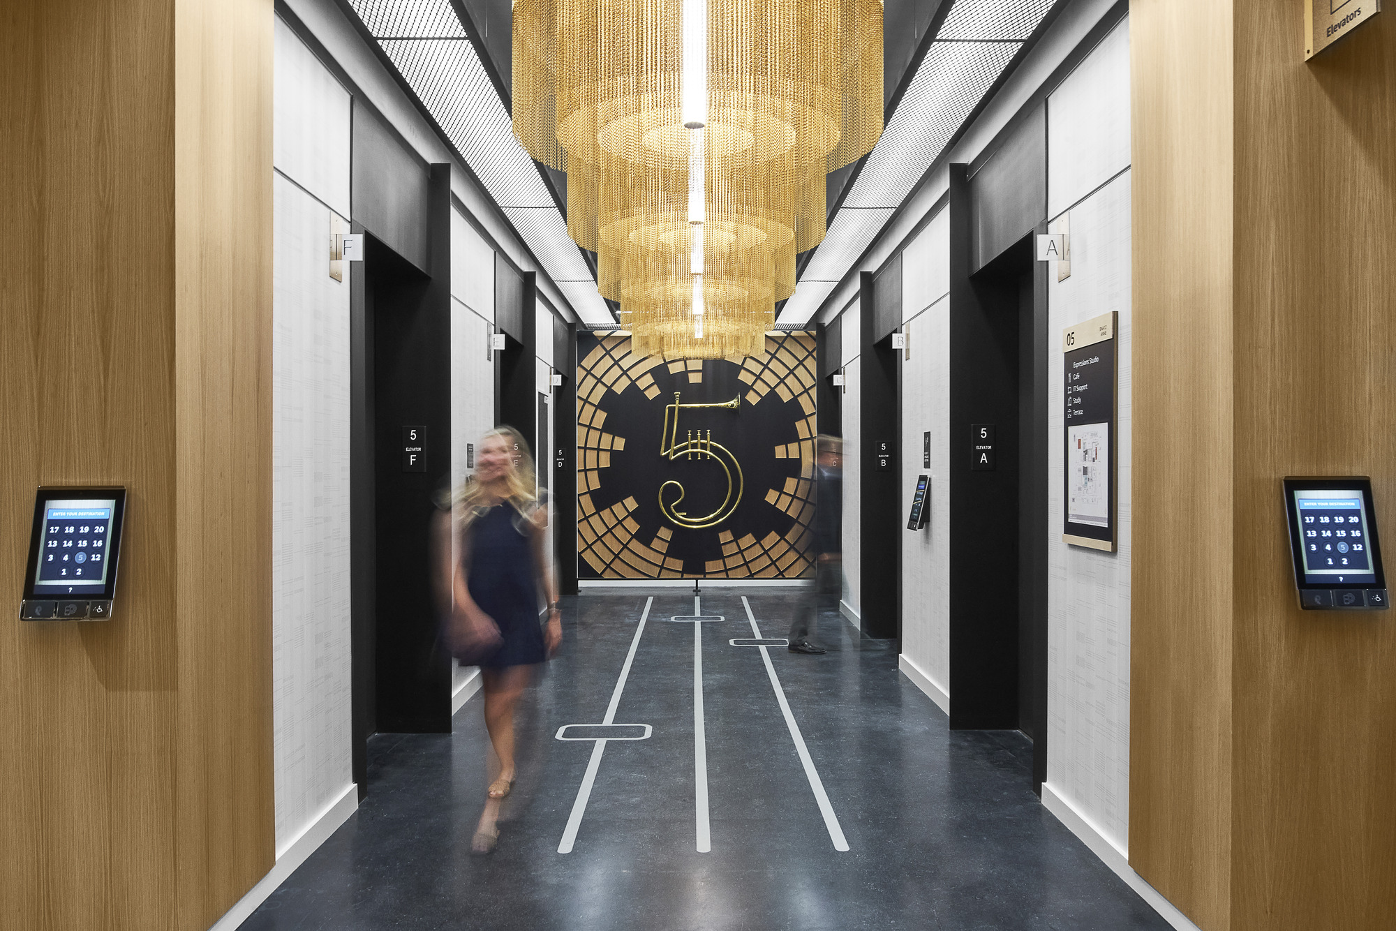
M105 621L116 597L126 489L42 487L20 618Z

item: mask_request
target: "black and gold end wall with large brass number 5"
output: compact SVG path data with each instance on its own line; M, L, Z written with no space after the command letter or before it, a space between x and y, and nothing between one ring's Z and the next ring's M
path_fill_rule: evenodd
M581 578L807 578L818 346L764 342L737 364L578 336Z

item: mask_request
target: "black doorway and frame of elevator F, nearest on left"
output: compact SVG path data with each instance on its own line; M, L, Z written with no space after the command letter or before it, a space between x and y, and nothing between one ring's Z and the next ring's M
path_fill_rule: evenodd
M352 226L367 233L350 274L350 740L360 798L369 737L451 730L430 540L451 475L451 166L430 166L427 188L426 269ZM426 472L403 468L405 426L426 429Z

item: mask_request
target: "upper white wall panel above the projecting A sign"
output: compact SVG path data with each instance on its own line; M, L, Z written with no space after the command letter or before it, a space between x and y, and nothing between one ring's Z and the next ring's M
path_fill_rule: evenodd
M1050 218L1129 167L1128 18L1047 98L1047 149Z

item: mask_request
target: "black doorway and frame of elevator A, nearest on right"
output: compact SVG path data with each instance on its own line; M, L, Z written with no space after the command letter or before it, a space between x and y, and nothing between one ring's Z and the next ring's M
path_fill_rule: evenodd
M973 268L951 166L951 727L1022 730L1047 766L1047 278L1033 234ZM993 470L972 429L994 426Z

